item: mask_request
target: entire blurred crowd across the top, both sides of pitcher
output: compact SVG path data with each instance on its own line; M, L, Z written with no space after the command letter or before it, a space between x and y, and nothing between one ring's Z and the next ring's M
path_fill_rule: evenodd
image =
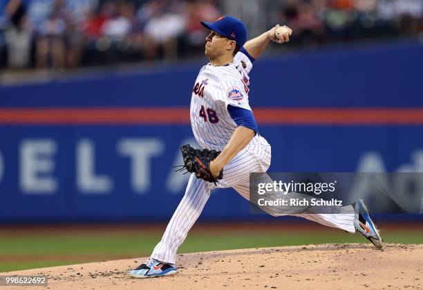
M207 31L199 21L225 14L224 1L0 0L0 69L67 69L200 55ZM423 32L423 0L256 1L267 6L269 25L293 28L290 47Z

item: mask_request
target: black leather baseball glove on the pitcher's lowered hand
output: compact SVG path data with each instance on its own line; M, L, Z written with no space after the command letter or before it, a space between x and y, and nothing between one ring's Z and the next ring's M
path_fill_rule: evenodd
M182 158L184 158L184 165L181 165L181 168L177 171L187 170L187 172L195 173L198 179L204 179L215 184L219 179L223 179L223 170L216 178L210 172L210 162L220 154L220 151L194 149L189 144L180 147L180 151Z

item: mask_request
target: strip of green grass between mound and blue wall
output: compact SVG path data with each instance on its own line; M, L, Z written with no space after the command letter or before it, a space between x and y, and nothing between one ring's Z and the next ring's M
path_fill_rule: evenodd
M46 266L77 264L118 257L148 256L162 232L82 231L80 233L19 233L0 235L0 272ZM419 230L389 230L384 233L388 243L423 244ZM301 244L366 242L361 235L319 227L319 230L241 229L196 231L190 233L178 253L218 251L236 248L294 246ZM84 257L84 255L86 257ZM57 259L55 259L57 256Z

